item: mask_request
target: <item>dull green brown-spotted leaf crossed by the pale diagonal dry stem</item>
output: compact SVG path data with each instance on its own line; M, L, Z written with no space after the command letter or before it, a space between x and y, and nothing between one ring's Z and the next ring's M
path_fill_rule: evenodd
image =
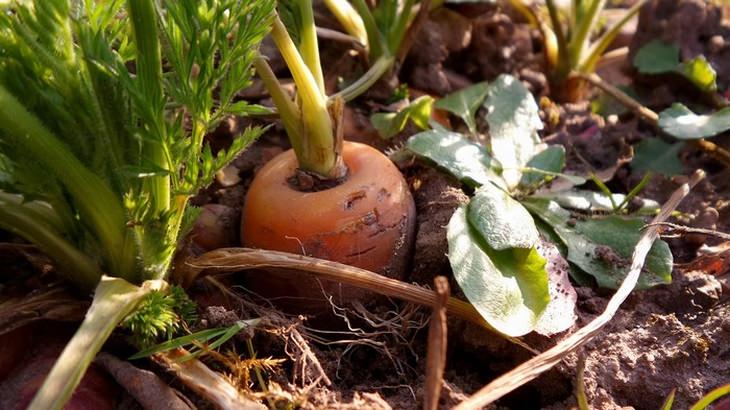
M601 287L616 289L621 285L641 236L641 219L610 215L581 220L554 201L527 198L522 203L562 239L568 249L568 261L593 276ZM637 287L671 282L672 262L669 245L654 242Z

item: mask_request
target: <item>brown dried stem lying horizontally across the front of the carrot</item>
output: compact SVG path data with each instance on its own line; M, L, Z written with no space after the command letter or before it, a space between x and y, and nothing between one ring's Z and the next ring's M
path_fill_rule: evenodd
M201 273L284 268L295 270L292 275L303 272L315 275L319 279L345 283L432 308L437 306L436 301L439 297L432 290L378 275L365 269L287 252L250 248L225 248L205 253L188 261L187 264L193 269L188 273L188 277L184 279L186 284L192 283ZM446 308L450 314L496 333L496 330L489 326L470 303L451 297L446 303ZM502 337L532 353L539 353L517 338Z

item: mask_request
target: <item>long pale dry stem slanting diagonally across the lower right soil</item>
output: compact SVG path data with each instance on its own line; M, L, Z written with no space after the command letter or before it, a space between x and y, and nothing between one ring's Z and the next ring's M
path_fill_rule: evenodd
M656 224L658 222L664 222L667 218L669 218L672 211L689 193L690 189L702 180L704 176L705 173L703 171L695 171L688 183L674 191L652 223ZM598 331L613 318L621 306L621 303L626 300L631 291L634 289L634 286L636 286L639 274L644 266L646 255L649 253L651 245L658 236L658 226L653 225L646 228L634 248L634 254L631 258L631 268L628 275L626 275L621 287L618 288L613 297L611 297L608 301L606 310L604 310L603 313L554 347L533 357L484 386L476 394L463 401L454 409L480 409L489 403L493 403L516 388L535 379L540 374L558 364L569 353L577 350L579 347L591 340Z

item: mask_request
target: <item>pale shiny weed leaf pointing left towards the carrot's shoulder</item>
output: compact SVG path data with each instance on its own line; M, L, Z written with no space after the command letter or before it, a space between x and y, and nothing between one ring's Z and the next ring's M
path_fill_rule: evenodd
M434 162L465 184L477 187L489 181L504 185L492 170L486 149L461 134L449 131L424 131L406 142L414 154Z

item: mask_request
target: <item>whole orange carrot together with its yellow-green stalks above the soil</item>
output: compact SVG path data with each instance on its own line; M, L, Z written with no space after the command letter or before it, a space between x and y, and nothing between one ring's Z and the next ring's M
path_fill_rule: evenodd
M301 19L290 31L299 39L298 47L278 17L271 30L297 86L296 98L286 93L263 57L255 61L292 150L267 163L251 183L243 209L243 244L401 277L415 220L410 191L385 155L343 140L344 102L324 91L312 1L298 1L296 7ZM314 279L295 282L277 273L255 276L250 287L264 295L299 299L322 294ZM335 303L347 301L354 292L325 289L334 294ZM306 304L296 308L306 311ZM326 303L314 308L330 309Z

